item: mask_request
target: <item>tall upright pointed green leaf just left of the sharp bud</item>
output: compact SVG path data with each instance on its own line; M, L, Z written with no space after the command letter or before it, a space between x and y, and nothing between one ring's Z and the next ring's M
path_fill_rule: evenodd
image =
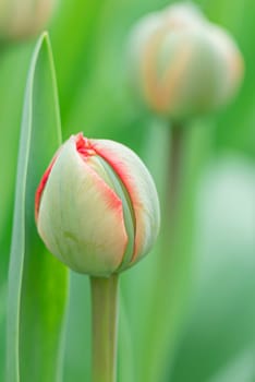
M7 380L59 378L66 270L49 255L34 220L34 195L61 143L60 116L47 34L35 48L23 110L9 273Z

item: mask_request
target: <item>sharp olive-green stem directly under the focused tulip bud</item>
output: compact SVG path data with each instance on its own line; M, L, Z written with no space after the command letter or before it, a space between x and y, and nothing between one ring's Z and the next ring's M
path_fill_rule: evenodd
M118 275L90 277L93 315L93 382L116 382Z

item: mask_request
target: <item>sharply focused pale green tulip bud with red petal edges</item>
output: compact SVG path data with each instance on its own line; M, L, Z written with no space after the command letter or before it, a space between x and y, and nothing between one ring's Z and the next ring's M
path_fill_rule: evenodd
M139 261L159 230L159 201L145 165L124 145L72 135L37 189L46 247L78 273L108 277Z

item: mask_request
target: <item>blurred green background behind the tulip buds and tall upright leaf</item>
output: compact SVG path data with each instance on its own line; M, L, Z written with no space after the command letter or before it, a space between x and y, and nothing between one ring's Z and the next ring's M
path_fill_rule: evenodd
M150 169L160 193L169 127L142 110L130 92L126 40L138 17L170 3L59 0L49 25L63 139L83 131L131 146ZM231 105L193 121L185 135L177 248L171 271L163 275L169 296L163 326L160 311L151 307L160 246L122 276L120 382L255 381L255 2L196 3L235 37L245 77ZM34 45L29 40L0 50L1 381L19 133ZM72 274L64 382L89 381L89 325L88 279ZM151 339L157 337L158 342Z

